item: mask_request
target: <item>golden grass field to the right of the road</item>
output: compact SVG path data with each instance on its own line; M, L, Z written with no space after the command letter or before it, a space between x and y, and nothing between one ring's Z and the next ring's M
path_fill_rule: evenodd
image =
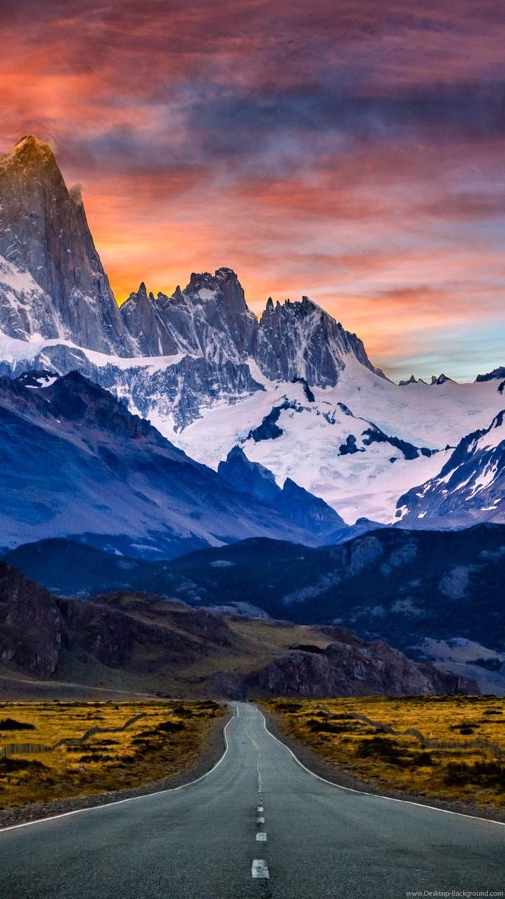
M444 743L488 740L505 750L503 699L371 696L272 699L264 705L286 733L373 787L505 808L505 759L475 749L423 748L412 736L381 734L350 717L366 715L398 731L413 727Z

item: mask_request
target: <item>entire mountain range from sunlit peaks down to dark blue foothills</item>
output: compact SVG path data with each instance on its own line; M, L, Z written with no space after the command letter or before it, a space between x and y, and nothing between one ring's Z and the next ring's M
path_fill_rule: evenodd
M50 147L0 158L0 544L76 622L148 591L505 691L504 388L394 384L307 297L254 316L227 267L119 306Z

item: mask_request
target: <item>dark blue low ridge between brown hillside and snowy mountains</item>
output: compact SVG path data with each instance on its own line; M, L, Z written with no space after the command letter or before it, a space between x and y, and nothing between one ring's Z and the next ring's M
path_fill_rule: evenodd
M349 627L505 695L503 525L368 530L318 548L248 539L164 562L48 539L5 559L59 595L146 590L199 608Z

